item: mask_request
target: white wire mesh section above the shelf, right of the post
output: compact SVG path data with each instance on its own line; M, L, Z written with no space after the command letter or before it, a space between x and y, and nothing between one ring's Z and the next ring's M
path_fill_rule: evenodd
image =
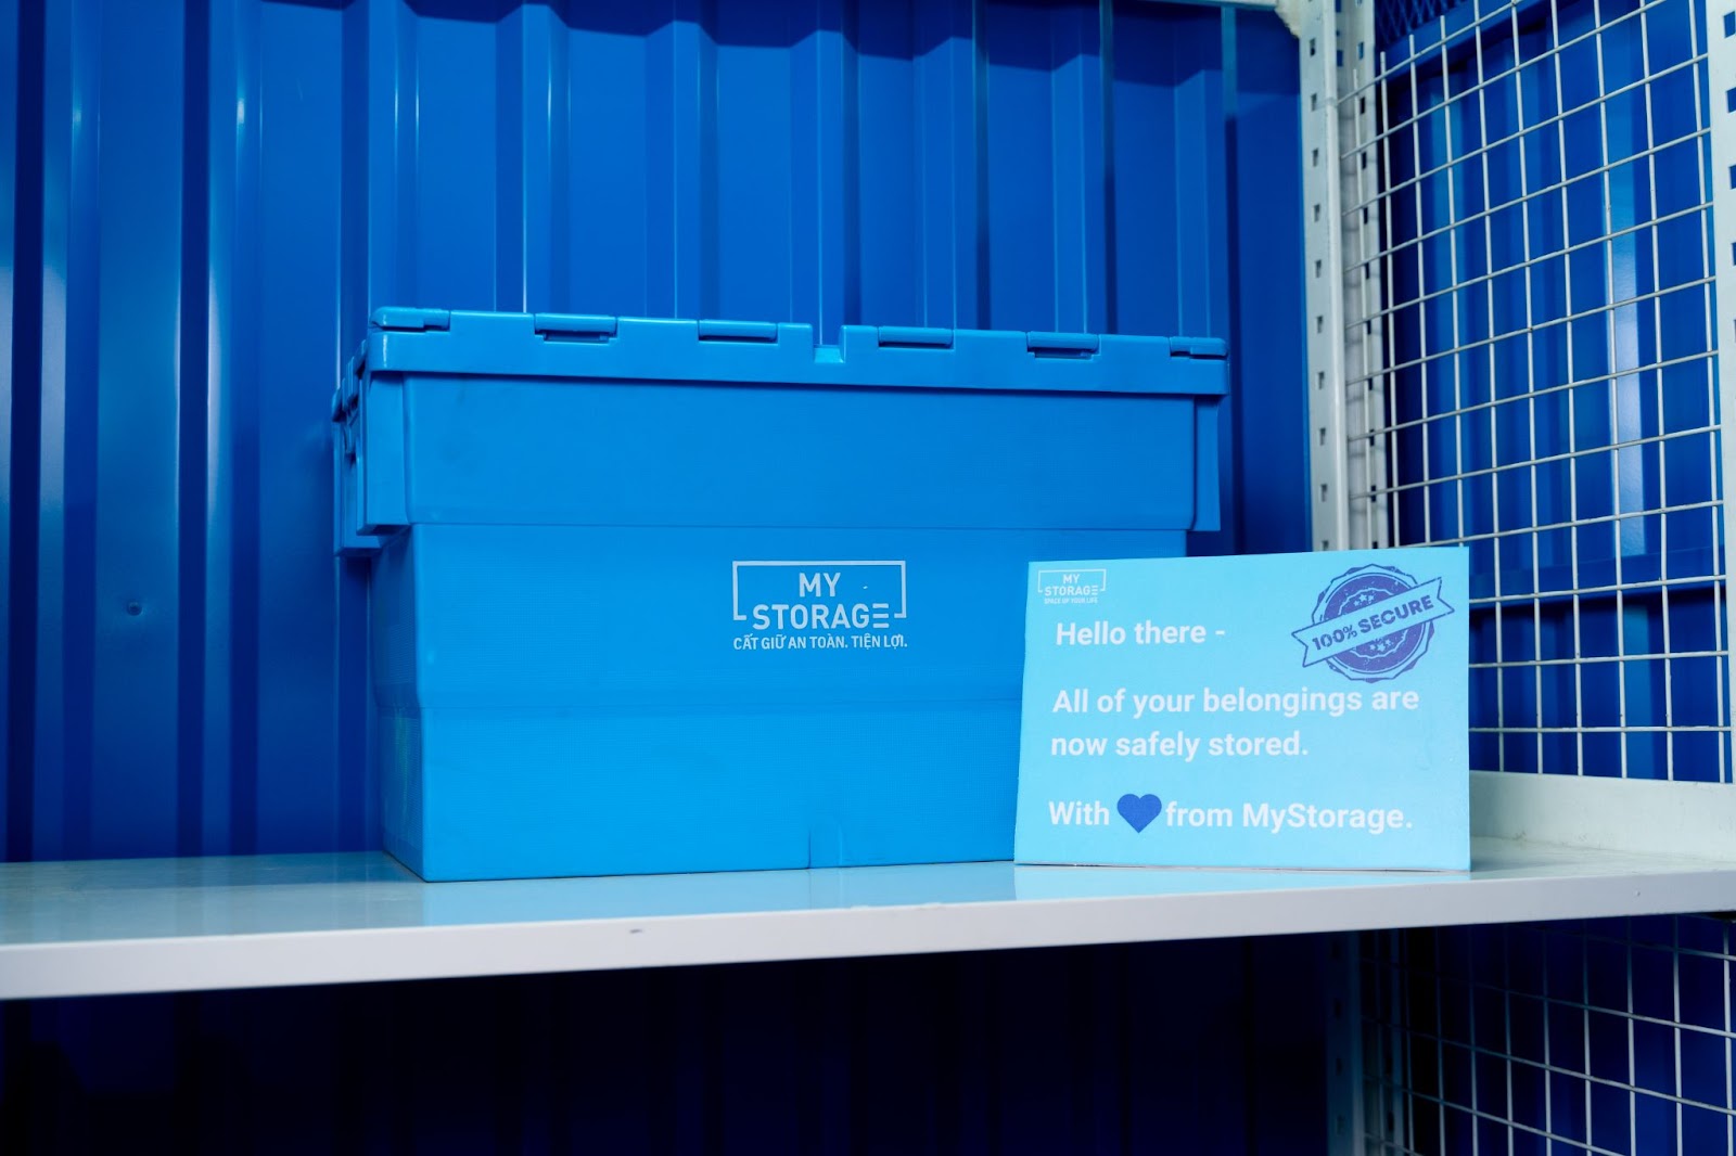
M1349 500L1470 548L1476 769L1731 781L1705 30L1476 0L1340 97Z

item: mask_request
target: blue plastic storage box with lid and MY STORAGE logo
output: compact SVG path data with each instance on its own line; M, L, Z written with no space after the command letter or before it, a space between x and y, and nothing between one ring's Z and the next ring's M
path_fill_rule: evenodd
M1217 526L1217 340L382 309L339 389L429 880L1003 859L1026 564Z

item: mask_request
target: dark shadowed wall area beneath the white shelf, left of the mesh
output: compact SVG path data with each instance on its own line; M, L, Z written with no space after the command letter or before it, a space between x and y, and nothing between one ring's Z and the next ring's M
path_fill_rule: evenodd
M1321 939L0 1005L0 1149L1314 1156Z

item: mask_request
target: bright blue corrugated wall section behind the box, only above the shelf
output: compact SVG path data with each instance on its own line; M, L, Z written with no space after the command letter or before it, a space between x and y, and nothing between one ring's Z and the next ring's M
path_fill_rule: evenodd
M1293 40L1154 3L0 2L12 859L377 845L370 307L1233 340L1300 548Z

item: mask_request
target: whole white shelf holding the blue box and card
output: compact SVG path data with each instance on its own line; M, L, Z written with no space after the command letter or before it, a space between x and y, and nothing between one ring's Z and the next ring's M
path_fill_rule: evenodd
M1479 838L1465 875L1007 863L422 883L382 854L0 864L0 998L1736 908L1736 863Z

